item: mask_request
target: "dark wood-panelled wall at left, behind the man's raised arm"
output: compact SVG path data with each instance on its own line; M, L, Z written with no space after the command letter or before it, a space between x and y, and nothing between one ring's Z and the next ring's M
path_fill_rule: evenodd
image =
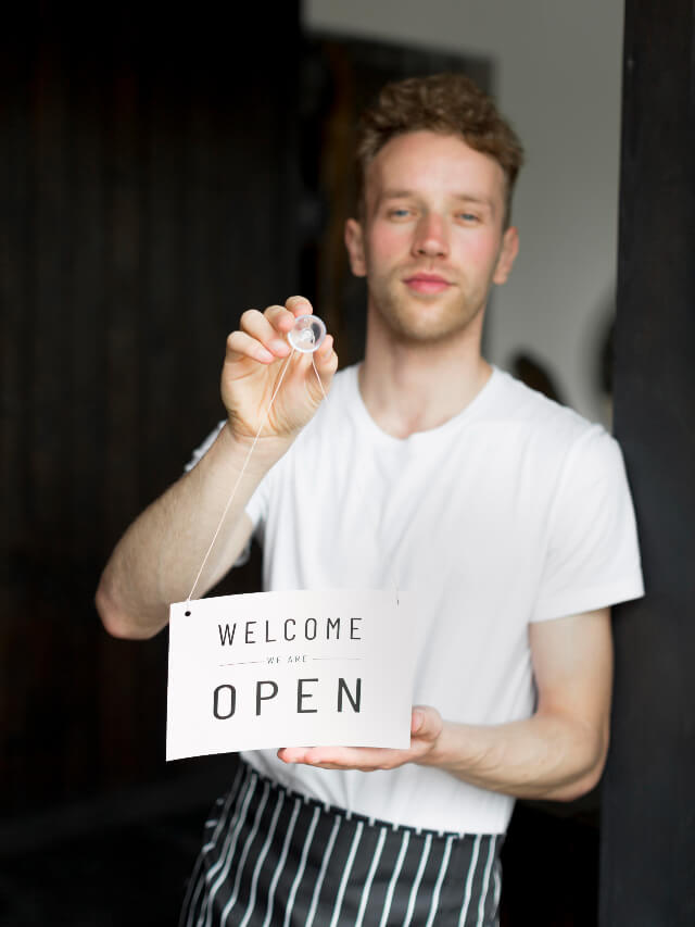
M226 334L296 288L298 4L181 9L3 22L0 811L162 774L166 637L93 591L219 417Z

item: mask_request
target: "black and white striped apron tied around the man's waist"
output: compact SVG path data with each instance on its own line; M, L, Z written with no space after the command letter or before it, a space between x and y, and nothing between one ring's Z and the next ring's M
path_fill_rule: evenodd
M350 814L241 763L205 824L180 927L493 927L502 842Z

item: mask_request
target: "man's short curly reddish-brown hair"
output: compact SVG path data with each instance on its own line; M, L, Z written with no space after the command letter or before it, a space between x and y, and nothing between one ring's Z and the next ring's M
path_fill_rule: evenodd
M395 136L422 130L458 135L476 151L494 158L507 181L508 225L523 148L492 98L464 74L432 74L387 84L376 104L363 113L356 149L359 213L364 213L365 176L371 161Z

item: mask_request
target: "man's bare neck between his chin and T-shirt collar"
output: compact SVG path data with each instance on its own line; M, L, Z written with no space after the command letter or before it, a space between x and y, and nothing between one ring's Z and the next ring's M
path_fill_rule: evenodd
M359 391L382 430L407 438L437 428L476 398L492 374L480 354L481 323L445 341L413 342L394 339L369 313Z

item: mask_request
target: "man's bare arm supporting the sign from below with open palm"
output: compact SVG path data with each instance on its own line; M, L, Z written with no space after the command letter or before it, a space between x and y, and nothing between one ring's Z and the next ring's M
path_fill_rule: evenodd
M517 798L569 801L593 788L608 750L612 642L610 609L529 626L538 706L500 725L444 721L413 710L410 748L285 748L287 763L329 769L437 766L466 782ZM455 682L453 682L455 685Z

